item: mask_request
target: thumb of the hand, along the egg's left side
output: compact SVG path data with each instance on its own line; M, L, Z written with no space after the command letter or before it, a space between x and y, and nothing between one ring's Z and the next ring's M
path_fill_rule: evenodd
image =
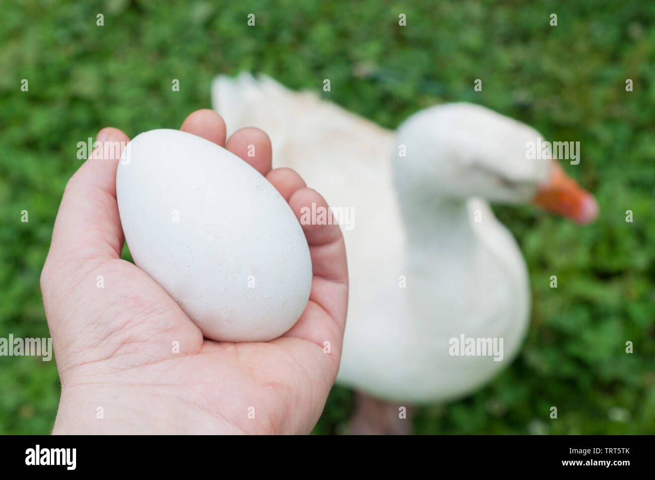
M66 185L48 257L84 261L121 256L124 238L116 203L116 168L130 139L109 127L98 132L96 141L102 144Z

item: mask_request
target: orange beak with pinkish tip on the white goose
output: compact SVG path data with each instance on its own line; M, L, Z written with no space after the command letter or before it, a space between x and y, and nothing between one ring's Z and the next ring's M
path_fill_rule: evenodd
M553 160L553 174L546 185L539 187L533 203L580 224L589 223L598 216L596 199L567 176L557 160Z

